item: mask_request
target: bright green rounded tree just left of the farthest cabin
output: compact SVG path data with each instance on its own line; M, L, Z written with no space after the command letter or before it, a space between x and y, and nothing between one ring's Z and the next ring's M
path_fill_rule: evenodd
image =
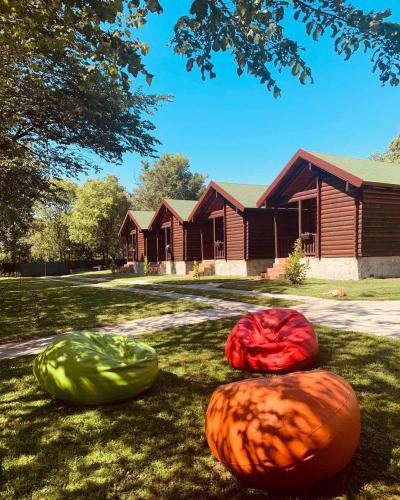
M115 257L121 246L118 229L128 208L128 196L114 175L86 181L73 203L72 241L100 253L105 260Z

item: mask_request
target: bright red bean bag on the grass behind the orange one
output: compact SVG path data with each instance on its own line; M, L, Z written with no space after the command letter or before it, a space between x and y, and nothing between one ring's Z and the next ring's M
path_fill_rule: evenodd
M306 318L293 309L266 309L238 321L228 336L229 363L251 372L287 373L310 368L318 338Z

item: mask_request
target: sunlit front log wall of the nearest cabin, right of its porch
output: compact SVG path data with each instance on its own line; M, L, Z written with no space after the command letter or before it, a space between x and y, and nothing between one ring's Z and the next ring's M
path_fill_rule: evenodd
M354 257L357 191L327 173L321 181L321 257Z

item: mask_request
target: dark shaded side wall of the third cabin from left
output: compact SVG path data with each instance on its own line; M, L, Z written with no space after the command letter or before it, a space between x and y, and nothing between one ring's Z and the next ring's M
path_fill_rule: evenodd
M275 257L274 214L259 209L246 213L246 258L273 259Z

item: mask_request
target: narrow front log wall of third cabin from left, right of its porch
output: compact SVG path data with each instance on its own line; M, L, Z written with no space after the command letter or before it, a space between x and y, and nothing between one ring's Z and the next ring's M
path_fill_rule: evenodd
M225 202L225 258L243 260L245 254L245 220L243 215Z

